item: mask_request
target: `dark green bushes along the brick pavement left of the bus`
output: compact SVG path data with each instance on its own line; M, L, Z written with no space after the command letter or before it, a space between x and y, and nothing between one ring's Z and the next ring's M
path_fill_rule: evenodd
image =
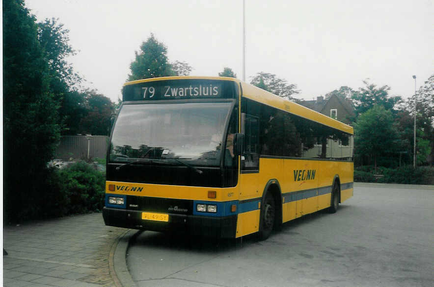
M8 192L5 223L101 211L106 176L93 165L77 162L59 169L39 171L35 192ZM19 204L14 200L19 198Z

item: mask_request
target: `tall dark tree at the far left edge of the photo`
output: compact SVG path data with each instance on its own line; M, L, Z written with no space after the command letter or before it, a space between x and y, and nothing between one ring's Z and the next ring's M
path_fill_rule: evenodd
M9 219L42 208L47 162L59 141L58 105L37 35L24 0L3 1L3 206Z

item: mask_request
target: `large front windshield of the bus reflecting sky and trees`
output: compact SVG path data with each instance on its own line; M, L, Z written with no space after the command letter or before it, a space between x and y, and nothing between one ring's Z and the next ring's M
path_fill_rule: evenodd
M217 167L230 107L231 102L124 105L109 161Z

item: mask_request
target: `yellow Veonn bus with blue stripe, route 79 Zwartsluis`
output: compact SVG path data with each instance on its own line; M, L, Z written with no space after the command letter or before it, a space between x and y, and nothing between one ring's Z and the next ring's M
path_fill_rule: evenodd
M229 77L125 83L106 225L266 239L353 195L353 128Z

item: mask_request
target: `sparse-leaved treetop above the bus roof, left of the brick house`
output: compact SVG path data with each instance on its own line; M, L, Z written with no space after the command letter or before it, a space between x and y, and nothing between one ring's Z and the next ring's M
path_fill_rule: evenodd
M288 81L278 78L275 74L259 72L252 77L250 84L260 87L270 93L286 99L295 100L292 95L298 94L296 84L289 84Z

